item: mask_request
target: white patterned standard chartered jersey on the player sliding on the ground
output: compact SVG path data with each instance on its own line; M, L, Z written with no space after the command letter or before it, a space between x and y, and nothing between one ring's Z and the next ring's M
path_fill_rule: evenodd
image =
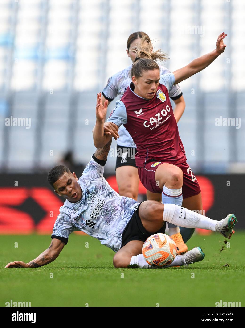
M104 162L104 163L103 163ZM81 200L71 203L67 199L60 208L51 238L67 244L73 231L83 231L100 240L101 244L117 252L122 245L122 234L139 203L120 196L104 179L106 161L94 155L80 176Z

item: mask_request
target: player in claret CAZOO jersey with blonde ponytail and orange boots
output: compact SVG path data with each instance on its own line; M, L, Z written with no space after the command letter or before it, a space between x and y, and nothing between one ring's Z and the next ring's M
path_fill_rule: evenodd
M111 128L111 135L101 136L96 121L94 144L102 147L109 137L115 136L122 124L137 145L136 165L142 184L146 189L162 193L162 203L182 205L182 185L185 202L192 209L202 209L200 187L186 163L183 144L179 138L176 120L169 99L174 83L179 83L210 65L225 49L223 38L218 36L216 49L193 60L187 66L160 76L157 60L166 60L160 51L154 51L144 36L132 65L132 82L104 125ZM167 116L168 115L168 116ZM184 177L184 179L183 179ZM193 208L194 206L194 208ZM169 235L178 242L179 253L187 250L179 227L172 228Z

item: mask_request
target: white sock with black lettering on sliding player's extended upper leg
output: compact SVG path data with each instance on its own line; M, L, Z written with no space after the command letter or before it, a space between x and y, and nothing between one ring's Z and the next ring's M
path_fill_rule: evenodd
M163 220L184 228L200 228L216 231L218 221L175 204L164 204Z

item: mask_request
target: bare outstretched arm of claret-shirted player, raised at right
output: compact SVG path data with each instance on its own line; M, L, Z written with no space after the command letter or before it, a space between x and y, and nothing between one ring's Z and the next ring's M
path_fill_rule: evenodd
M226 45L224 44L223 39L226 35L227 34L223 32L218 36L216 49L214 51L194 59L187 66L173 72L175 76L174 84L177 84L183 80L188 79L188 77L204 70L204 68L210 65L225 50Z

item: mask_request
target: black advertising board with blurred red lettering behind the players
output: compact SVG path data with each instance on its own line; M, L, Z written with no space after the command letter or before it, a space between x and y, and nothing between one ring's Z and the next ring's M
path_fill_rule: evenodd
M244 176L196 177L205 215L221 219L234 213L239 220L239 213L243 213ZM46 182L46 175L2 175L0 178L0 234L50 234L64 199L54 193ZM15 187L13 181L18 181L18 186ZM115 175L108 176L107 181L118 192ZM141 183L139 194L143 200L146 199L146 190ZM245 228L245 223L240 220L237 228Z

